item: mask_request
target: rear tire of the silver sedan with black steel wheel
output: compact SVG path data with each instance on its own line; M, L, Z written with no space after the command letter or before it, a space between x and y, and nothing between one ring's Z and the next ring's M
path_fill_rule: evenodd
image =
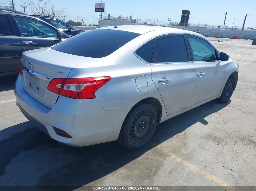
M151 104L135 106L125 118L118 143L131 150L143 147L152 138L157 119L157 111Z

